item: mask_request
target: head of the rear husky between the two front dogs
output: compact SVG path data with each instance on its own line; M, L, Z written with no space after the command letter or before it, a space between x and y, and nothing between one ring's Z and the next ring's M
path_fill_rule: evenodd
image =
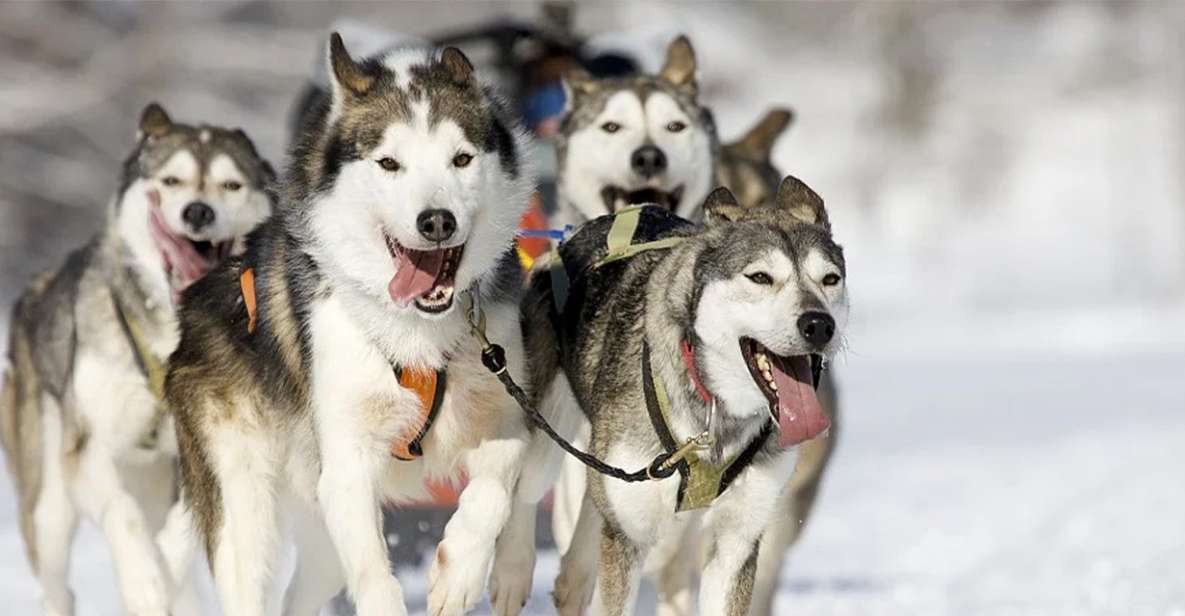
M557 223L656 203L698 214L712 187L719 142L697 100L696 53L686 37L667 47L659 75L594 79L576 69L557 134Z

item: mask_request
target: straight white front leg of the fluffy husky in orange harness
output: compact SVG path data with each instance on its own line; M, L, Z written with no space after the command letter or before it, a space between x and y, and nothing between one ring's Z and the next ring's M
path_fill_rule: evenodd
M335 432L335 434L334 434ZM322 432L321 477L316 494L326 528L341 559L346 586L358 614L406 616L403 589L391 573L377 479L379 464L370 447ZM324 558L299 554L297 558Z

